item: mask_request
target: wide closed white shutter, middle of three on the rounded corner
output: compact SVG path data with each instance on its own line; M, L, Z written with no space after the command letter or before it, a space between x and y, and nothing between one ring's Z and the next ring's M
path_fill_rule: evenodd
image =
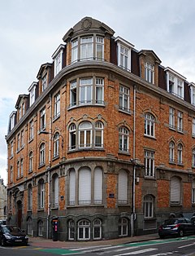
M79 205L91 203L91 171L82 168L79 172Z

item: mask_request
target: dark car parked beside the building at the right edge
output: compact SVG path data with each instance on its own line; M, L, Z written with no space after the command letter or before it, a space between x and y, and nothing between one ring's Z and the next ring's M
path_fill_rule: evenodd
M195 234L195 224L189 218L168 218L158 228L160 238Z

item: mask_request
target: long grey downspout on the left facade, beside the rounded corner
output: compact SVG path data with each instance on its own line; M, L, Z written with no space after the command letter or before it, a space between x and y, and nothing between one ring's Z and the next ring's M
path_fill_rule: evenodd
M50 238L50 166L51 166L51 124L52 124L52 97L50 95L50 141L49 141L49 166L47 168L47 177L48 177L48 203L47 203L47 239Z

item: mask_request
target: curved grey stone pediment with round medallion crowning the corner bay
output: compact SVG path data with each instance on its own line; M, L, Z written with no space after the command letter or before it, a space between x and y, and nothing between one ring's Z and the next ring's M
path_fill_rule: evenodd
M86 33L108 33L113 36L115 31L99 20L94 20L91 17L85 17L80 20L72 29L67 31L63 37L63 41L68 42L71 38L75 38Z

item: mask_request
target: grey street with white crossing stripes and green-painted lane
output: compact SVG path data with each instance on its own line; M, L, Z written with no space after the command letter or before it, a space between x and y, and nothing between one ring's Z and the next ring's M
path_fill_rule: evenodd
M87 255L87 256L195 256L195 236L169 238L124 245L97 245L85 248L46 249L33 246L0 247L3 256Z

